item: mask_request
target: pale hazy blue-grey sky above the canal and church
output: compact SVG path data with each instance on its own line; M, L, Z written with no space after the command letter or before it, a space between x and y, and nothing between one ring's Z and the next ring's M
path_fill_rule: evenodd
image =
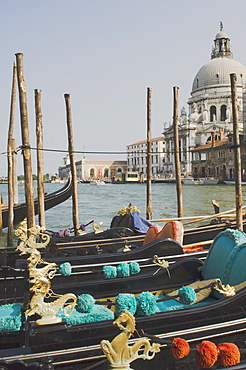
M30 144L36 147L40 89L44 148L53 150L44 152L44 172L54 174L68 149L64 94L71 98L76 159L85 151L86 159L126 160L126 146L147 136L148 87L153 138L172 121L174 86L179 111L188 112L193 79L210 60L220 21L234 59L246 65L245 14L245 0L0 0L0 176L7 174L16 53L24 55ZM17 99L17 147L20 125ZM24 172L20 152L17 172Z

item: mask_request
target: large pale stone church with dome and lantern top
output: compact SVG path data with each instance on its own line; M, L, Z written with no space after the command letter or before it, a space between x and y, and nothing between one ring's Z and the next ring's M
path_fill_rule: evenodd
M233 59L230 39L221 23L220 31L215 36L211 60L199 69L193 80L191 97L188 99L189 113L187 115L185 108L182 108L179 117L181 170L186 174L192 173L192 155L199 152L193 152L195 148L206 145L208 148L212 137L215 141L223 140L222 132L223 138L233 132L231 73L236 73L237 77L238 127L239 133L243 133L246 68ZM175 172L173 125L164 126L163 135L166 143L164 169Z

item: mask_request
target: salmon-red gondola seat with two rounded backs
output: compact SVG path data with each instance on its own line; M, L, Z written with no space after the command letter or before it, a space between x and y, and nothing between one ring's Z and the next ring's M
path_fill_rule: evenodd
M179 244L183 244L184 229L180 221L169 221L160 230L159 226L151 226L147 231L143 245L161 238L171 238Z

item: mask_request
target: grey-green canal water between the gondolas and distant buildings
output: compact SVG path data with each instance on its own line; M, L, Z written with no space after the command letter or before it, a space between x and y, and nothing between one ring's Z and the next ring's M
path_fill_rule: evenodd
M53 192L63 184L45 183L45 191ZM19 201L24 201L24 186L18 186ZM0 192L7 203L7 185L0 185ZM102 222L103 230L110 226L117 212L129 203L146 216L146 184L78 184L79 222L86 224L91 220ZM35 190L36 195L36 190ZM152 184L152 218L177 217L176 184ZM213 214L211 200L220 203L220 211L235 208L235 188L232 185L183 185L184 216ZM243 204L246 204L246 186L243 187ZM45 212L46 228L58 231L72 227L72 199ZM38 219L37 219L38 220ZM6 229L4 230L6 231ZM88 226L87 232L92 231ZM4 237L1 244L4 243Z

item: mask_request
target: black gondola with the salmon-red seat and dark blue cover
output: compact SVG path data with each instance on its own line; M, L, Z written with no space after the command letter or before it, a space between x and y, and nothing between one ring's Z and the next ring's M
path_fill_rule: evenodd
M42 255L48 261L54 261L57 264L69 262L72 265L134 261L152 258L154 255L164 257L182 254L185 256L187 253L196 251L206 252L218 233L228 228L236 229L236 227L236 221L219 222L185 229L182 242L173 240L173 237L164 236L146 244L144 244L146 234L140 235L126 227L112 227L98 234L82 235L79 241L53 243L52 238L42 251ZM244 230L246 231L245 221ZM7 261L2 264L21 267L25 263L25 259L20 259L15 248L8 248Z

